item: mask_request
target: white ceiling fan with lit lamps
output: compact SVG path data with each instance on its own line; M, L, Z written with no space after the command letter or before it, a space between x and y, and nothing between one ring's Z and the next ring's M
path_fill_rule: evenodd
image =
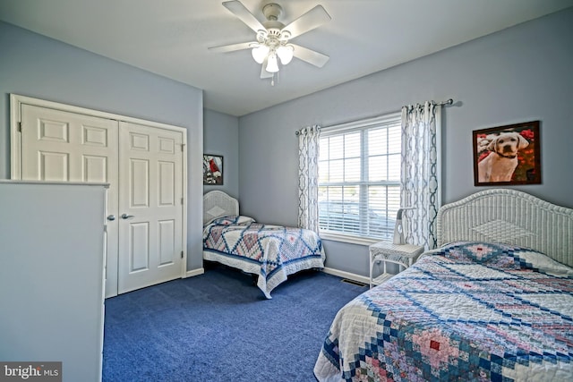
M304 13L295 21L285 25L278 21L282 8L275 3L266 4L262 7L262 13L267 21L259 21L238 0L223 3L231 13L243 21L249 28L256 32L256 41L231 44L222 47L210 47L214 52L234 52L242 49L252 49L252 58L261 64L261 79L272 78L274 85L275 73L278 72L278 63L286 65L293 57L303 60L321 68L329 61L328 55L323 55L314 50L290 42L292 38L302 35L309 30L320 27L330 21L327 13L321 5L317 5L307 13Z

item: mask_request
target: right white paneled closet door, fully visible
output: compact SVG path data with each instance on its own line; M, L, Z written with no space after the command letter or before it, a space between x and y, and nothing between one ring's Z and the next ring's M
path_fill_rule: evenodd
M183 133L119 123L119 293L183 266Z

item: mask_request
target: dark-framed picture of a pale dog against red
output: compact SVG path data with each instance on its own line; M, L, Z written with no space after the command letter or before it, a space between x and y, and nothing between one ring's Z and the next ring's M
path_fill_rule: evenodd
M539 139L539 121L475 130L475 185L541 183Z

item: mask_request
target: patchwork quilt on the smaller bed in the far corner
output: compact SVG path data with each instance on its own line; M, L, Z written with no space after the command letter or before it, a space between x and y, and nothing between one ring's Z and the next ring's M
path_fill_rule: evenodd
M259 275L257 286L270 299L288 275L323 268L325 255L321 238L310 230L225 216L204 227L203 259Z

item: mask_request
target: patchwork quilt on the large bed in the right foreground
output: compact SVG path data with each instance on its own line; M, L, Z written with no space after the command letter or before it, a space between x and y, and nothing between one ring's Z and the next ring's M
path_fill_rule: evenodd
M457 242L338 311L319 381L573 381L573 268Z

